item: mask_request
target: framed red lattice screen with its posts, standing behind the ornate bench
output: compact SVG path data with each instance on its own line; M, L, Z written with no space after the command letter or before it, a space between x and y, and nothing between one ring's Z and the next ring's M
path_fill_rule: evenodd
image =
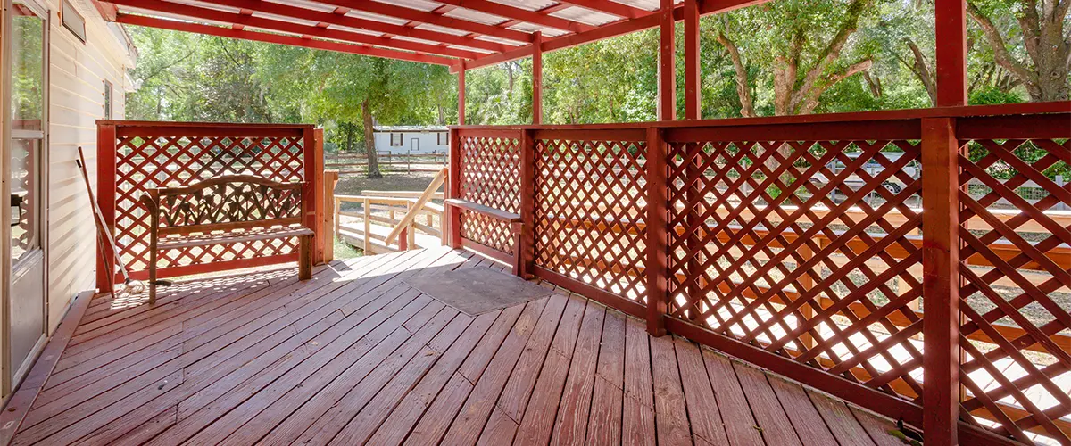
M250 174L304 181L305 196L317 203L315 172L322 164L311 125L102 121L99 138L101 207L114 225L120 256L136 277L148 271L149 224L138 197L149 188ZM307 209L312 211L305 226L316 228L316 207ZM174 249L161 252L159 267L163 277L197 274L290 262L297 251L297 239Z

